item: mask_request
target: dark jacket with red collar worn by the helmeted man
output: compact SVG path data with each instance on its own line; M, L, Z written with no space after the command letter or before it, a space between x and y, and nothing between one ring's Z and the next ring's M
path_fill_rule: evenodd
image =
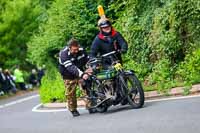
M103 55L114 50L126 52L128 44L119 32L112 29L110 36L104 36L102 33L96 36L91 46L90 56L96 57L98 54Z

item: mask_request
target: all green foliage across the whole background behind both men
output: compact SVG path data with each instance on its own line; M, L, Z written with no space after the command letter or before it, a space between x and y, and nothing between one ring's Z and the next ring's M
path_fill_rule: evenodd
M50 82L62 82L55 76L59 50L72 37L89 50L98 32L99 4L129 44L125 67L134 69L145 85L200 82L198 0L1 0L1 65L46 64L42 92L52 92L57 83ZM63 87L58 86L60 95Z

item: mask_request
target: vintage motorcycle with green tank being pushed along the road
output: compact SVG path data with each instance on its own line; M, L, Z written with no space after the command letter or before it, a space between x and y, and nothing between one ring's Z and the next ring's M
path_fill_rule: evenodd
M92 109L106 112L112 105L127 105L132 108L141 108L144 104L144 91L134 71L124 70L117 58L117 51L94 58L87 63L93 69L90 76L88 99L92 102ZM109 62L106 69L102 66Z

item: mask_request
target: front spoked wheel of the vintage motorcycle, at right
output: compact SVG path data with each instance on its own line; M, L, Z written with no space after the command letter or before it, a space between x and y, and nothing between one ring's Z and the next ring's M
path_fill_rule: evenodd
M141 108L144 105L144 91L142 85L134 73L126 74L122 81L126 88L127 100L132 108Z

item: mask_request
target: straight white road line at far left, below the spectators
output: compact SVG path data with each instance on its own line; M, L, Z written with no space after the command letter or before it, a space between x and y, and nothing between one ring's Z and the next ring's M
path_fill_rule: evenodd
M12 102L9 102L9 103L6 103L6 104L2 104L2 105L0 105L0 109L6 108L6 107L9 107L9 106L18 104L18 103L22 103L22 102L31 100L31 99L36 98L36 97L39 97L39 95L37 94L37 95L22 98L22 99L19 99L19 100L16 100L16 101L12 101Z

